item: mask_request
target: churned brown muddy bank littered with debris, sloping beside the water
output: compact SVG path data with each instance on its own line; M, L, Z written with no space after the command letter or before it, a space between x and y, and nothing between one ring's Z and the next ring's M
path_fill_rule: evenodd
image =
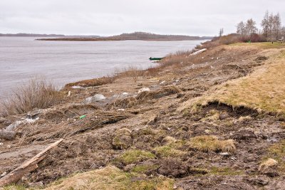
M219 46L187 63L140 76L138 81L117 78L100 86L66 88L66 100L61 105L34 110L38 120L19 125L19 137L1 139L0 174L63 138L63 143L36 171L24 176L21 184L44 186L75 172L112 164L124 171L140 168L138 172L147 176L168 176L175 179L175 189L284 189L284 173L259 170L268 147L285 138L283 118L217 102L196 112L180 109L185 101L207 94L214 85L249 75L278 51ZM138 94L141 88L150 91ZM71 97L67 97L69 90ZM107 98L84 102L98 93ZM81 115L86 117L80 120ZM0 127L21 118L26 114L1 117ZM193 137L201 135L234 139L236 150L207 152L188 146ZM135 162L120 159L133 149L155 157Z

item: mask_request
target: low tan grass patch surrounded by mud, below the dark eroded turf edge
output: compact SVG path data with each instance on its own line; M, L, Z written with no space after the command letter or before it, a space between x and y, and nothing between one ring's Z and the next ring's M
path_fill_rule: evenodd
M190 148L197 149L202 152L234 152L236 147L234 146L234 140L219 140L215 136L202 135L190 139L188 144Z

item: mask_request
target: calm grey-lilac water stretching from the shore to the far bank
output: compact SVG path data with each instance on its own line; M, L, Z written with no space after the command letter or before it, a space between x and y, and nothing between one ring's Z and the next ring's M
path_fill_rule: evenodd
M0 98L34 77L59 88L66 83L98 78L117 68L148 68L148 58L194 48L202 41L35 41L0 37Z

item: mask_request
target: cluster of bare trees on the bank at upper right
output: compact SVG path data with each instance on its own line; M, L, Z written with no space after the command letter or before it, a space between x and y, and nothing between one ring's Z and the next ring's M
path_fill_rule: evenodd
M253 19L237 24L237 33L242 41L278 41L285 36L285 27L281 26L280 14L269 14L266 11L264 19L261 21L262 29L259 31L257 23Z

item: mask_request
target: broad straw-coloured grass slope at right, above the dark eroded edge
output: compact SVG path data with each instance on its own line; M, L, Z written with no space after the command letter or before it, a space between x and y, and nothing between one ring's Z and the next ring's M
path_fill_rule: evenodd
M266 60L251 75L219 85L202 97L192 100L190 107L222 102L232 107L248 107L258 112L267 112L285 117L285 52Z

